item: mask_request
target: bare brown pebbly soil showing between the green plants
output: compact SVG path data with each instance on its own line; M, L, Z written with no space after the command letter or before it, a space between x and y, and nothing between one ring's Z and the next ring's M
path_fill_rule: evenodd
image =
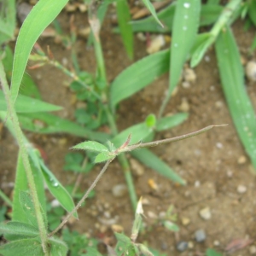
M88 26L84 15L75 14L76 26ZM62 12L58 17L61 26L68 33L70 15ZM125 67L131 65L125 54L124 46L119 35L113 34L113 26L108 18L102 27L101 37L105 55L108 80L112 81ZM85 25L84 25L85 22ZM248 49L254 37L253 29L245 32L243 24L236 22L233 32L241 49ZM71 51L61 44L55 44L54 38L40 38L38 43L46 50L49 45L55 59L67 63L71 67ZM135 37L135 59L139 60L146 54L146 43ZM94 50L86 47L86 40L79 38L76 43L79 64L83 70L94 73L96 60ZM37 70L28 71L46 102L52 102L64 108L57 113L61 117L73 118L73 93L67 89L71 79L56 68L44 66ZM139 241L147 241L153 247L166 255L204 255L207 248L214 247L224 253L224 248L235 239L232 255L250 255L256 236L256 200L255 172L250 160L237 137L235 127L230 118L224 94L218 75L218 67L214 49L207 52L207 59L195 67L196 81L189 88L178 86L177 94L172 96L166 113L177 113L183 98L189 103L189 119L171 131L161 132L157 139L175 137L190 131L201 129L207 125L229 124L217 127L207 133L188 140L152 148L154 154L165 160L167 165L187 181L187 185L178 186L172 181L161 177L154 170L143 168L143 175L133 173L138 196L143 196L147 203L143 205L146 229L139 236ZM130 125L142 122L148 113L158 113L168 83L168 75L157 79L146 89L120 103L117 115L119 131ZM247 83L247 91L256 107L255 84ZM47 153L47 164L55 176L63 184L74 183L77 175L63 171L64 157L69 148L82 141L81 138L66 134L38 135L27 132L27 137L38 144ZM1 189L11 197L12 182L15 180L15 159L17 145L9 132L3 128L0 144ZM130 158L131 159L131 158ZM244 160L244 161L243 161ZM87 189L95 179L101 166L96 166L90 174L84 175L80 183L82 190ZM152 179L157 189L149 186ZM111 221L124 228L125 234L131 234L134 214L128 194L121 198L113 196L112 188L125 183L125 178L118 161L113 161L108 172L96 186L96 195L79 209L79 221L69 224L72 230L90 234L96 238L106 236L113 241ZM238 193L239 186L245 186L245 193ZM174 233L166 230L154 217L159 217L173 206L177 213L177 224L180 231ZM211 218L203 219L201 209L209 208ZM107 213L108 214L107 214ZM109 215L109 216L108 216ZM183 224L184 218L189 224ZM204 230L206 241L195 241L195 231ZM251 240L250 246L236 250L238 242ZM177 251L179 241L188 241L191 248L183 253ZM256 244L255 244L256 245Z

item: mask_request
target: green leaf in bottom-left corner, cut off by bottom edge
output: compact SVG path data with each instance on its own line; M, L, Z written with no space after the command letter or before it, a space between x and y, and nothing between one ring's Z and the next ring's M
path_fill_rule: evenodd
M43 248L38 239L21 239L5 243L0 247L0 254L3 256L44 256Z

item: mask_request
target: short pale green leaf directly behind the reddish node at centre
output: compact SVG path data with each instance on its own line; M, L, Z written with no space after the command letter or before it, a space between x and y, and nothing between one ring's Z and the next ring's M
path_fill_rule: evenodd
M132 125L131 127L121 131L117 136L111 139L111 142L116 148L119 148L127 138L131 135L130 144L135 144L143 141L145 138L153 134L152 128L149 128L145 123Z

